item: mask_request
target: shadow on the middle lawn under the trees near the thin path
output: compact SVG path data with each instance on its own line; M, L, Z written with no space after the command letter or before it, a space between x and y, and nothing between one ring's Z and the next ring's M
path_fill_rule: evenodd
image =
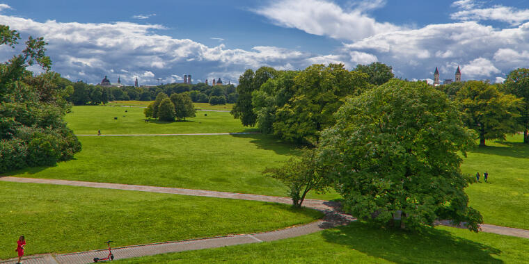
M279 155L299 155L301 154L300 146L274 138L273 135L265 134L247 134L232 135L235 138L251 138L250 143L259 149L272 150Z

